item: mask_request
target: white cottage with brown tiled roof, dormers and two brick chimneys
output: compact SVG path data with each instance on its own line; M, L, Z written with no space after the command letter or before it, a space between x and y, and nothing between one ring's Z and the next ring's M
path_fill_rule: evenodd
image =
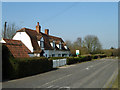
M22 41L34 56L70 56L70 50L62 38L49 35L49 29L45 29L45 33L41 32L39 22L37 22L36 30L22 28L16 31L13 40ZM33 56L33 54L30 56Z

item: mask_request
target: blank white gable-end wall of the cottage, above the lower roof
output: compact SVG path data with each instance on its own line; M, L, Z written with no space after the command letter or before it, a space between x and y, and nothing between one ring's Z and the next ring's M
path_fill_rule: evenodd
M25 46L31 51L33 52L33 46L32 46L32 43L31 43L31 39L30 37L27 35L26 32L17 32L15 34L15 36L13 37L14 40L20 40L22 41Z

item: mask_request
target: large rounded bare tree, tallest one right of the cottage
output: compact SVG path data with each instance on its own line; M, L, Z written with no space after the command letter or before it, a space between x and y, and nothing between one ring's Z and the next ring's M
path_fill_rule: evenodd
M84 45L88 49L90 54L99 53L102 49L102 45L97 36L94 35L87 35L84 38Z

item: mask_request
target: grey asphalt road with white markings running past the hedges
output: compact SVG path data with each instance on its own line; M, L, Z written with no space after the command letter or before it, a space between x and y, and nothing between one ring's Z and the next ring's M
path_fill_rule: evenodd
M3 82L3 88L106 88L117 75L117 59L60 67L35 76Z

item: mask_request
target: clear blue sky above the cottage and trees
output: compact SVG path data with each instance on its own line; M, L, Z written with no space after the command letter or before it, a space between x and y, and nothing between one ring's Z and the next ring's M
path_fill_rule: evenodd
M104 49L118 47L117 2L2 2L5 21L33 30L39 22L64 41L96 35Z

